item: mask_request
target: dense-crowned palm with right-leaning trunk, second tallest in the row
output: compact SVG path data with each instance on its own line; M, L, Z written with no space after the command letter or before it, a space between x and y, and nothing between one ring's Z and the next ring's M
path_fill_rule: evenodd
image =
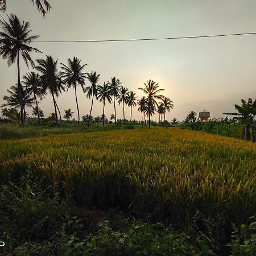
M39 59L36 60L38 62L38 66L36 66L36 69L41 73L40 74L40 83L42 84L42 93L46 93L47 90L52 95L54 110L55 110L55 123L57 125L58 119L57 119L57 109L60 110L57 106L55 97L59 96L59 93L61 93L61 90L64 90L64 87L61 83L60 77L57 74L57 60L53 61L52 56L46 56L46 60ZM57 109L56 109L57 108ZM60 123L61 123L61 115L60 115Z

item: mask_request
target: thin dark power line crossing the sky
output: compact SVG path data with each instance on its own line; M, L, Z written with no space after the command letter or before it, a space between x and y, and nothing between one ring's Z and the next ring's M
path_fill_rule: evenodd
M189 38L217 38L220 36L238 36L238 35L255 35L256 32L222 34L222 35L203 35L203 36L179 36L177 38L139 38L139 39L108 39L108 40L56 40L56 41L35 41L34 43L97 43L97 42L130 42L130 41L153 41L153 40L172 40L172 39L189 39Z

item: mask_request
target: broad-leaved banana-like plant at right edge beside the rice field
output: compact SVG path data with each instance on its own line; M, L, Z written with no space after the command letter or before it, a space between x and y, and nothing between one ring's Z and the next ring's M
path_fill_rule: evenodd
M237 112L224 112L223 114L227 115L236 115L233 119L236 119L238 123L242 123L243 125L243 138L246 141L250 141L250 129L253 133L253 142L256 141L255 138L255 122L254 117L256 116L256 100L253 102L251 98L246 102L245 100L241 100L242 105L235 104L234 107L238 111Z

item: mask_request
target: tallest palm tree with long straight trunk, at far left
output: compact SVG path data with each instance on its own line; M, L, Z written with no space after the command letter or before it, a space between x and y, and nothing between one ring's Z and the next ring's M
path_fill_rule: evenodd
M20 105L20 114L21 114L21 123L24 125L24 111L22 108L22 89L20 84L20 67L19 67L19 58L22 56L24 63L28 67L28 63L34 67L34 61L30 57L30 52L40 52L38 49L28 46L33 40L38 38L38 35L30 36L31 30L29 30L30 23L22 22L20 23L16 15L11 14L9 21L2 19L0 20L0 53L3 59L7 59L7 64L11 64L17 61L17 70L18 70L18 96L19 96L19 105Z

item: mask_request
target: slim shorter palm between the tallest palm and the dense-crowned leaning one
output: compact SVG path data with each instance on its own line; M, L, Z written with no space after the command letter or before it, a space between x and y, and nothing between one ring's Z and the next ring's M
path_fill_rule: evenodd
M42 93L42 85L40 84L40 76L38 73L35 72L30 72L26 73L26 75L23 76L23 84L27 86L28 89L30 89L31 94L33 94L36 102L36 108L38 108L38 100L36 96L40 97L40 100L42 100L43 93ZM36 114L38 117L38 125L40 125L40 117L39 117L39 112Z

